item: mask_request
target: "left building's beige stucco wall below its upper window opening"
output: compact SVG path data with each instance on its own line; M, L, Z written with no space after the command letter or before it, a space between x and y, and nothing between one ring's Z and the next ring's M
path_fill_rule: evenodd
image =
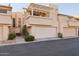
M9 34L9 26L12 25L12 19L10 14L0 13L0 40L7 40Z

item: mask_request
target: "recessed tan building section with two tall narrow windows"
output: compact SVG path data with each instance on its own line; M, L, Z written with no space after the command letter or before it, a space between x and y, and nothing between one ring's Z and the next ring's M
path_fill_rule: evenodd
M13 12L12 13L12 27L13 30L16 34L20 34L21 33L21 29L23 27L23 19L24 14L22 12Z

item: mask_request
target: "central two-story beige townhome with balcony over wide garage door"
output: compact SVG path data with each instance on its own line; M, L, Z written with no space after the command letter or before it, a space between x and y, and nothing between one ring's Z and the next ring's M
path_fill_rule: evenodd
M25 24L35 38L57 37L58 20L56 6L30 4L25 14Z

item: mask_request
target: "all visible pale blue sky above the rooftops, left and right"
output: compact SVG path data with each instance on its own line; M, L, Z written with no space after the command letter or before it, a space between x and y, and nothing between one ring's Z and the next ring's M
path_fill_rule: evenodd
M8 3L6 5L8 5ZM29 3L11 3L11 6L13 6L13 11L20 11L24 7L27 8L28 5ZM59 3L56 5L58 6L59 13L79 16L79 3Z

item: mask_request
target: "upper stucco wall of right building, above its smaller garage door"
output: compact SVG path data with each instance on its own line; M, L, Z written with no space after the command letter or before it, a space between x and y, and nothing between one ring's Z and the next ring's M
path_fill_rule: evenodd
M68 16L64 14L58 14L59 20L61 21L62 26L79 26L79 18L73 16Z

